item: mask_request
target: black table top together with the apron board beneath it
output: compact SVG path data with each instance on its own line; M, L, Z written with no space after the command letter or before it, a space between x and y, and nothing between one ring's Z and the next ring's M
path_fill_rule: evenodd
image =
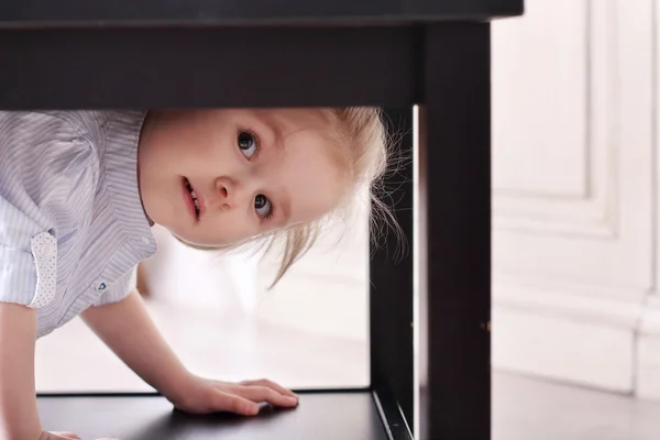
M409 107L421 99L420 29L461 45L461 30L521 3L3 0L0 109Z

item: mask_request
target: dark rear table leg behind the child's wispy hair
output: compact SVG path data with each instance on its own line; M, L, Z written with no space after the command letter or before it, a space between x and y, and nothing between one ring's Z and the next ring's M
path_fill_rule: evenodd
M372 233L371 383L376 393L391 394L413 429L413 109L387 108L384 116L396 148L376 195L403 237L384 221Z

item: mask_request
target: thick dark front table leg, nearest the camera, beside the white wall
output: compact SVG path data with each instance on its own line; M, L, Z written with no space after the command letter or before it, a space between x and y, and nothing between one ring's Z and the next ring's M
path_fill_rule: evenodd
M419 440L491 436L490 24L424 31Z

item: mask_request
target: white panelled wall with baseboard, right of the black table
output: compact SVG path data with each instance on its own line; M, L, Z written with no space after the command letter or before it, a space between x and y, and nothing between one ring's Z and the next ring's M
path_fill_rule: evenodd
M493 25L497 367L660 398L653 11L527 0Z

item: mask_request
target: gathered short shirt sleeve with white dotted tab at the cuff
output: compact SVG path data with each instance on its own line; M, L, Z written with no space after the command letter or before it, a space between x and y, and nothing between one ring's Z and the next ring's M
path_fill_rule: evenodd
M55 297L57 240L82 220L97 180L98 156L78 129L0 111L0 301L40 308Z

